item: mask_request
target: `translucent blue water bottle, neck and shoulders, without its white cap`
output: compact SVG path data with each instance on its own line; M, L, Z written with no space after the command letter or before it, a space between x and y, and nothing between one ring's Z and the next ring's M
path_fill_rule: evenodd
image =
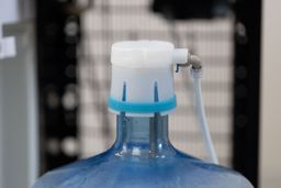
M187 143L188 144L188 143ZM117 139L94 157L49 172L33 188L251 188L236 172L173 148L168 117L117 117Z

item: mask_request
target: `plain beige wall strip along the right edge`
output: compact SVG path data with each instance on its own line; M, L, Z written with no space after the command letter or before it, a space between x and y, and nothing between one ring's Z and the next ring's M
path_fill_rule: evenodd
M281 187L281 1L263 0L261 188Z

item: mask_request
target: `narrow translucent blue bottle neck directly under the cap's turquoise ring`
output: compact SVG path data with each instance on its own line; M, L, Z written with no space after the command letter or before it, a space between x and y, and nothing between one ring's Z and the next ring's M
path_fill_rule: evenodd
M165 157L175 154L168 137L168 115L117 115L117 155L137 157Z

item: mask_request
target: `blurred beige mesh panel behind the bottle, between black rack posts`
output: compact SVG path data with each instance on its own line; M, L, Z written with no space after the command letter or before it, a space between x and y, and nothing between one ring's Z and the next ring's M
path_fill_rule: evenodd
M188 47L204 64L202 90L211 134L223 165L232 161L233 20L172 21L153 13L149 0L95 0L81 20L79 64L81 157L110 147L115 139L115 115L106 99L110 89L111 45L124 40L164 40ZM207 158L193 112L192 80L188 69L175 74L178 108L170 115L170 139L176 147Z

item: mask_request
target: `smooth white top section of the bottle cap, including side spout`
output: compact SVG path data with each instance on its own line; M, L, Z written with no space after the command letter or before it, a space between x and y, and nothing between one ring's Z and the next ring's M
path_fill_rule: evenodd
M164 41L125 41L114 43L111 49L111 63L122 67L167 67L172 63L188 60L187 48L176 48Z

